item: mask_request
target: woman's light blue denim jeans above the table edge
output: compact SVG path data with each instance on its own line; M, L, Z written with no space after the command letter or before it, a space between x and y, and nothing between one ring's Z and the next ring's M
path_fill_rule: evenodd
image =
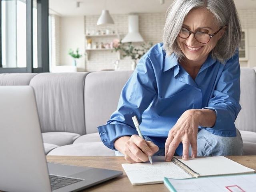
M145 136L145 140L152 141ZM164 156L165 149L159 148L154 156ZM116 156L124 156L121 152L115 151ZM226 155L242 155L243 141L241 134L236 129L236 137L223 137L214 135L205 129L199 130L197 134L197 156L226 156ZM174 154L176 156L177 154ZM191 156L191 147L189 149Z

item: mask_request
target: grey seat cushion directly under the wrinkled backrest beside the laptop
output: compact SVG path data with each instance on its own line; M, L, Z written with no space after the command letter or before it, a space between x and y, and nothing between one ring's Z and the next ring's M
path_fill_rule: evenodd
M80 134L70 132L46 132L42 133L42 136L44 143L62 146L72 144Z

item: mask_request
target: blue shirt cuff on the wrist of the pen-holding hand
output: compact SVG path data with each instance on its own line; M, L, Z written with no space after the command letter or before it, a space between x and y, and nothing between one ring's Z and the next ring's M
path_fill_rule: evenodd
M114 142L117 138L135 134L138 135L138 132L134 128L121 124L106 124L99 126L98 132L103 144L112 150L116 150L114 148Z

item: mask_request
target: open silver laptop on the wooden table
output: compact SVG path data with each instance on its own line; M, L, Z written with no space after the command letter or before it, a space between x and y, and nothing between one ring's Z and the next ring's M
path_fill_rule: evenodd
M123 174L47 163L40 130L33 88L0 86L0 190L79 191Z

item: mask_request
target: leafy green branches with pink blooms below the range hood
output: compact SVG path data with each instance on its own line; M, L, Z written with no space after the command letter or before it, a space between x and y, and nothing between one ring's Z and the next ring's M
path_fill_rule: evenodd
M143 43L140 46L134 46L131 42L121 43L121 40L113 40L113 48L115 51L121 51L122 57L131 57L132 60L140 59L151 47L152 42Z

